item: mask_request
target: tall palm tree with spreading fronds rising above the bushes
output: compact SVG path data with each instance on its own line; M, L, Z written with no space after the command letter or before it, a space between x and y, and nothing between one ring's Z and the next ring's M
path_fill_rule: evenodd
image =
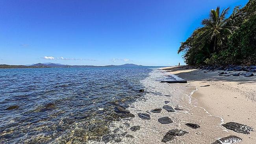
M209 18L204 18L202 20L202 25L204 25L204 27L200 28L200 30L204 31L203 35L209 37L213 42L213 51L221 46L227 33L232 33L232 29L235 28L235 26L230 26L231 19L225 18L228 11L229 7L223 9L220 13L220 8L217 7L216 10L212 9L210 11Z

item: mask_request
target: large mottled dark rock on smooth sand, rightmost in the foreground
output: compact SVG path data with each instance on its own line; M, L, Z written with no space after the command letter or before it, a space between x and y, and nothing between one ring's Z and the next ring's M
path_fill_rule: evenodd
M230 129L232 131L235 131L237 133L243 133L243 134L250 134L250 131L253 131L252 127L239 124L236 122L228 122L226 124L222 124L222 126L226 127L227 129Z

